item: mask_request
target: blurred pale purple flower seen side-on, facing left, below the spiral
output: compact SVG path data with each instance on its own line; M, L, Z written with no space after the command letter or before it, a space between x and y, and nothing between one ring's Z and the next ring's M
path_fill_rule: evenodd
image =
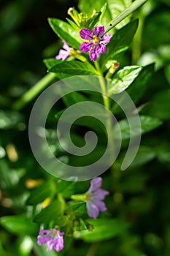
M88 216L96 219L100 211L107 211L102 200L109 194L107 190L101 189L102 178L94 178L90 181L90 188L86 194Z

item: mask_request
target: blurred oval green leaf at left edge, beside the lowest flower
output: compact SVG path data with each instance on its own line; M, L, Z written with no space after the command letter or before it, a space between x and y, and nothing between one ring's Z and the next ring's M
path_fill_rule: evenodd
M39 225L23 215L1 217L0 224L13 234L32 236L39 232Z

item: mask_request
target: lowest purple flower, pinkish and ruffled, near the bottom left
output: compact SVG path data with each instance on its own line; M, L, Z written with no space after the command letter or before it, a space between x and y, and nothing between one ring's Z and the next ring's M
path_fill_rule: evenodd
M55 228L50 230L42 230L40 228L37 239L39 245L47 244L47 252L53 249L53 247L56 252L63 249L63 233L55 230Z

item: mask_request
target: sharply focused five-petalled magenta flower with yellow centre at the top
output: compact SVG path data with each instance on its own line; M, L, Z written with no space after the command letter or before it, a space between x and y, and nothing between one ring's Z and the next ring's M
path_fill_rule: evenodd
M82 39L88 39L90 42L82 42L80 45L80 50L82 53L87 53L90 51L89 56L92 61L98 59L99 53L106 53L106 46L109 43L112 34L104 34L104 26L96 26L96 28L91 31L90 29L81 29L80 37Z

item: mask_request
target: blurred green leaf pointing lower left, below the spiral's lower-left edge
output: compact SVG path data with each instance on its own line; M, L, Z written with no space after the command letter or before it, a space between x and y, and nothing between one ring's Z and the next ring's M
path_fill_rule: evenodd
M47 197L51 197L55 192L55 185L46 181L31 191L31 195L26 200L28 205L36 205L42 203Z

